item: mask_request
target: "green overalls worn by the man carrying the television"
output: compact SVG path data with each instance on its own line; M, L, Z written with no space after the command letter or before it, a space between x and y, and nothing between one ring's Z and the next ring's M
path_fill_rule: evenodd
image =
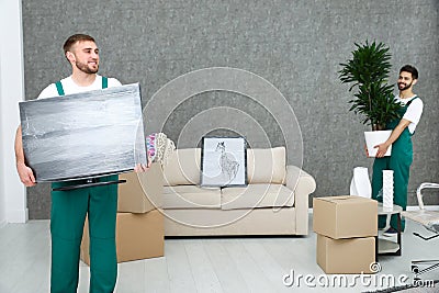
M58 94L64 95L59 81L56 87ZM106 87L108 79L102 78L102 88ZM97 180L117 180L117 176ZM54 182L52 188L81 183L86 180ZM113 292L117 278L116 210L116 184L52 191L52 293L77 292L80 244L87 214L90 227L90 292Z

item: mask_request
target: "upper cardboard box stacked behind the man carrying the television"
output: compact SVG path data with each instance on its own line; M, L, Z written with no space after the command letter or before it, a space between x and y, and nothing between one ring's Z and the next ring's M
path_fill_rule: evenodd
M147 172L119 176L126 183L119 184L117 212L147 213L162 206L164 174L159 164L151 164Z

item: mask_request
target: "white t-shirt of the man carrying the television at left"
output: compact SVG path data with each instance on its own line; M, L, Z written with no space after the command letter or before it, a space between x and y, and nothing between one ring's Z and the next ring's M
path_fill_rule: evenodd
M63 84L65 94L100 90L100 89L102 89L102 77L97 75L97 78L93 83L91 83L88 87L80 87L80 86L76 84L75 81L71 79L71 76L69 76L69 77L66 77L65 79L61 79L61 84ZM120 86L122 86L122 83L117 79L109 78L109 88L120 87ZM58 97L58 95L59 94L58 94L55 83L52 83L52 84L47 86L40 93L38 99L53 98L53 97Z

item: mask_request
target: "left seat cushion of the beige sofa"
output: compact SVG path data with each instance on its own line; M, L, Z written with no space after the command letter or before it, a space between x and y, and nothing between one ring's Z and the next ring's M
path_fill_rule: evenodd
M219 188L164 187L164 209L219 209Z

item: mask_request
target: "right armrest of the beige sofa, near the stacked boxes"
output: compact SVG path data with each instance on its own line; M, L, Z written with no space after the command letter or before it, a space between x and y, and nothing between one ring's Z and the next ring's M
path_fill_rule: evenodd
M309 194L316 189L314 178L296 166L286 166L286 188L294 191L294 207L296 209L296 234L308 234Z

